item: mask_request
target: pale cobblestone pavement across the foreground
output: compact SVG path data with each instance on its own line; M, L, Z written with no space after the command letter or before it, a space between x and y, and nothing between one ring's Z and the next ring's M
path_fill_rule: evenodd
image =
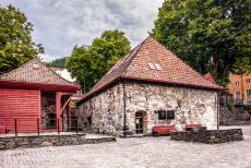
M163 137L119 139L115 143L86 144L0 152L0 168L251 168L251 127L244 141L200 144Z

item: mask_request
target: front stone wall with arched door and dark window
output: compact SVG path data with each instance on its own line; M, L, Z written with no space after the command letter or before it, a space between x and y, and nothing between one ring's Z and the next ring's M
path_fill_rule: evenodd
M125 85L127 123L130 130L135 128L135 112L144 110L147 132L152 133L155 124L176 124L183 130L184 124L201 123L207 129L217 128L217 93L186 87L168 87L153 84L130 82ZM175 110L175 119L159 121L157 110Z

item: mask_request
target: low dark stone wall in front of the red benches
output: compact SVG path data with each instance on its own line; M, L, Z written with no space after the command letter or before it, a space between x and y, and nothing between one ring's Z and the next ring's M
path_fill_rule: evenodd
M176 141L218 144L231 141L242 141L243 134L241 129L182 131L172 132L170 139Z

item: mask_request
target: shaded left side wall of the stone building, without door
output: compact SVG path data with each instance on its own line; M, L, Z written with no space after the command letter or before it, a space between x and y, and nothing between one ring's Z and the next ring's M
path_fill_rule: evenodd
M113 134L121 132L123 125L122 95L122 84L117 84L82 104L79 107L80 128L98 133ZM89 120L92 120L92 123L89 123Z

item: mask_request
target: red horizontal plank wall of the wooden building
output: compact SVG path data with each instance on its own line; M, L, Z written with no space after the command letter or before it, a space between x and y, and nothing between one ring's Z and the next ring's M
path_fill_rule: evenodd
M36 132L39 112L39 91L0 88L0 128L7 128L8 133L14 133L14 119L19 133Z

